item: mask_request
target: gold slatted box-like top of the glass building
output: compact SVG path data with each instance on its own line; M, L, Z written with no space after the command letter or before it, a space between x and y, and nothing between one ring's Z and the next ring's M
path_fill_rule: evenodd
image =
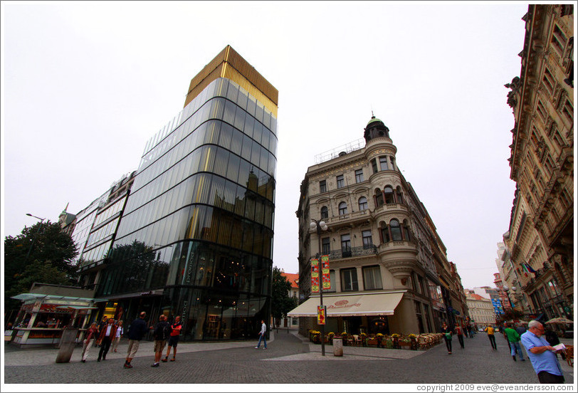
M184 106L206 88L216 78L227 78L247 90L265 107L277 116L279 92L257 70L241 57L230 45L209 62L200 73L191 79L189 93Z

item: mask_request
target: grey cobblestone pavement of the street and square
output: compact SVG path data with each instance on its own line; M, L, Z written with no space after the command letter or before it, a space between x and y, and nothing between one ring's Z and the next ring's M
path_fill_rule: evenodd
M271 332L268 350L256 350L256 342L180 343L177 361L155 368L150 367L152 342L142 342L130 370L122 367L126 343L121 343L119 352L110 353L106 361L96 362L98 348L93 348L88 361L82 363L80 349L75 348L70 363L59 364L54 362L58 350L19 350L6 346L4 383L537 383L530 361L514 362L508 344L499 335L497 351L491 349L485 333L478 333L465 339L463 350L458 340L453 340L453 355L448 355L442 343L426 351L343 347L343 357L335 357L333 347L326 345L323 357L320 345L310 344L294 333ZM574 382L574 371L565 361L560 363L567 383Z

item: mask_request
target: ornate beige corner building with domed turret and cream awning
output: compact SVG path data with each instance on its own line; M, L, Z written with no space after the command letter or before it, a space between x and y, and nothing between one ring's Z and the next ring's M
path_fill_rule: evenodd
M456 266L424 204L396 163L389 128L372 117L364 140L320 154L301 183L299 290L289 315L318 328L311 260L329 256L326 331L433 332L467 316ZM326 227L311 228L315 221ZM328 329L328 330L327 330Z

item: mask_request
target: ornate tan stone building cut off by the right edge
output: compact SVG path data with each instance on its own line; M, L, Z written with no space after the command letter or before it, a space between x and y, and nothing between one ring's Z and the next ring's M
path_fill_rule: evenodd
M530 4L520 76L506 84L516 182L509 258L530 313L572 318L574 305L574 9ZM536 315L537 316L537 315Z

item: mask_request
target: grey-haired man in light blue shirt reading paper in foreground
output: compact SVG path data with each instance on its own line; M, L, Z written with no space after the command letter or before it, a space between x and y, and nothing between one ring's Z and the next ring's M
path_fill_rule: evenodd
M537 320L528 324L528 330L521 337L530 362L541 384L563 384L564 375L555 354L556 350L546 341L544 326Z

